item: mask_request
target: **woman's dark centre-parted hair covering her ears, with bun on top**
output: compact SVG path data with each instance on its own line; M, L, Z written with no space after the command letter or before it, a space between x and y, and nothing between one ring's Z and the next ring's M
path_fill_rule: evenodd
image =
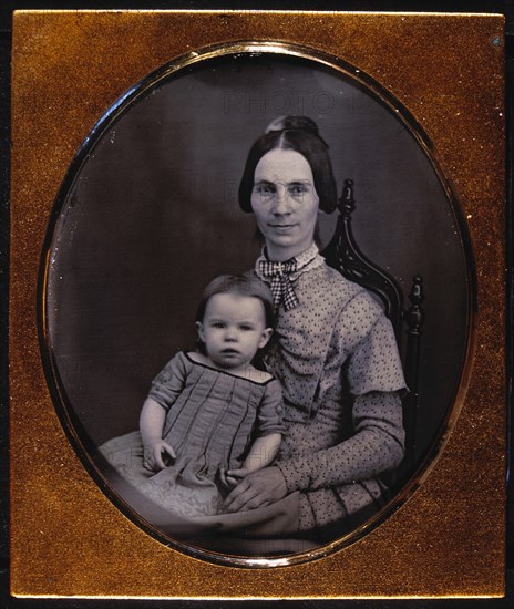
M251 146L239 184L239 206L251 211L255 168L263 156L275 148L301 154L312 171L319 208L331 214L337 207L337 188L328 145L319 135L318 125L308 116L280 116Z

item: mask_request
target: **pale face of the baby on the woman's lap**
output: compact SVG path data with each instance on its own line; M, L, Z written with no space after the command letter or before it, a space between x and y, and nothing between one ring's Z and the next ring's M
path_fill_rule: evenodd
M232 371L248 365L271 336L260 300L236 293L209 298L197 329L210 361Z

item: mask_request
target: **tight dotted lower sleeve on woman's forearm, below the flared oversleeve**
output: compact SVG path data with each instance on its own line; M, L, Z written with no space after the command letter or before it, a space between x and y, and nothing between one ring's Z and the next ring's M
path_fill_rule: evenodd
M404 453L402 403L394 392L370 392L356 398L356 433L330 448L276 465L289 493L352 484L393 469Z

